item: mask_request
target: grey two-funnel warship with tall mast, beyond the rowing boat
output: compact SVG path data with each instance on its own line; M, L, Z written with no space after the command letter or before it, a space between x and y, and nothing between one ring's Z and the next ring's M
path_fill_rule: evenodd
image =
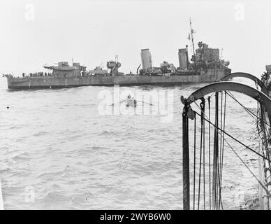
M107 69L97 66L87 70L80 63L59 62L57 66L43 66L49 72L22 73L22 77L7 77L9 89L62 88L87 85L180 85L185 83L212 83L231 72L229 62L221 59L218 48L209 48L207 44L198 42L194 48L193 29L190 21L189 39L192 42L193 55L189 60L188 45L178 50L179 67L164 61L160 66L153 66L149 49L141 50L142 68L138 66L136 73L119 72L122 65L118 58L107 62Z

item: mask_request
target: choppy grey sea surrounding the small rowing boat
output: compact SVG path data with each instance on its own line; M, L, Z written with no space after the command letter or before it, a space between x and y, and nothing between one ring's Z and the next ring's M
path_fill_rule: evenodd
M173 120L161 122L159 114L99 114L98 94L112 87L8 91L6 78L0 84L5 209L182 209L180 96L203 85L121 87L173 90ZM253 99L235 96L255 111ZM227 105L226 130L256 148L254 120L235 102ZM257 157L233 146L257 173ZM228 149L224 162L224 209L257 204L251 174Z

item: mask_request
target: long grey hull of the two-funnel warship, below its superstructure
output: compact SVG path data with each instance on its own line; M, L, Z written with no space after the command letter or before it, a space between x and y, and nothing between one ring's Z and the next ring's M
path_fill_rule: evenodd
M8 88L13 90L22 89L47 89L79 87L87 85L96 86L132 86L132 85L182 85L186 83L213 83L230 73L230 69L207 69L202 75L182 74L171 76L89 76L78 78L54 78L52 76L8 77Z

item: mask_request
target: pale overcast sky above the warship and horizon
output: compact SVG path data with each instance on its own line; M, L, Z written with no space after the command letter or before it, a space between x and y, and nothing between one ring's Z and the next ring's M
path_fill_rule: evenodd
M44 71L68 61L93 69L119 55L136 72L140 49L154 66L179 66L177 50L195 41L223 48L233 71L260 75L271 64L271 1L0 1L0 73ZM191 56L191 55L190 55Z

